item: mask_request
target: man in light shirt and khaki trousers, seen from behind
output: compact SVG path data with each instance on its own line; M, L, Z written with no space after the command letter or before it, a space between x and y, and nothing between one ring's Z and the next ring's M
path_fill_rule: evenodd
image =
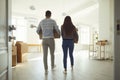
M55 50L55 41L53 29L55 29L59 34L60 30L55 22L55 20L51 19L51 11L47 10L45 13L46 18L43 19L37 28L37 33L40 33L42 30L42 47L43 47L43 62L45 73L48 73L48 64L47 64L47 56L48 56L48 48L50 50L51 55L51 68L55 68L54 64L54 50Z

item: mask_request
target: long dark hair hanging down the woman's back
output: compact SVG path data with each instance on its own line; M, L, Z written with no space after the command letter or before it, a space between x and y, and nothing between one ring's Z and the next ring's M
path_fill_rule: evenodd
M75 30L75 26L73 25L70 16L65 17L62 28L63 30L65 30L66 35L71 35L73 33L73 31Z

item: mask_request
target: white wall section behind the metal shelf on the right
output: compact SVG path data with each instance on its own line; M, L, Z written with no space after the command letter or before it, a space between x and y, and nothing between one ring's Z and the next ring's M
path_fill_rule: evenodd
M113 0L99 0L99 40L108 40L106 53L113 57Z

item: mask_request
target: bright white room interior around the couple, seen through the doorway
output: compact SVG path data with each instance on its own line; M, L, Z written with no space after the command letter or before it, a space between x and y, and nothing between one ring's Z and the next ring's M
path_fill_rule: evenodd
M63 73L62 38L55 39L56 70L44 74L42 40L36 29L52 12L59 29L65 16L72 18L79 41L74 44L74 70ZM113 80L113 0L12 0L13 80Z

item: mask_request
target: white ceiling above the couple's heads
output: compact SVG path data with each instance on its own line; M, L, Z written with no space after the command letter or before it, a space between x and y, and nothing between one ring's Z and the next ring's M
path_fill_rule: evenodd
M64 17L70 15L75 25L98 24L97 0L12 0L12 14L35 17L40 20L46 10L52 11L52 18L62 24Z

